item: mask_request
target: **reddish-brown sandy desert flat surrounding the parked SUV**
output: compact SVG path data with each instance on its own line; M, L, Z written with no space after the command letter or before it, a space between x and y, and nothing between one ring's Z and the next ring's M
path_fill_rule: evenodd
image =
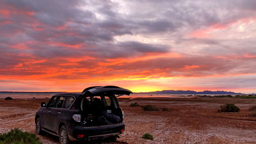
M46 99L0 100L0 133L20 127L35 133L35 112ZM141 107L130 107L137 102L168 108L169 111L145 112ZM218 113L223 104L234 103L241 110L236 113ZM125 132L117 144L256 144L256 117L250 117L256 99L240 98L119 98L125 112ZM150 133L154 140L141 138ZM44 144L58 143L58 137L38 135ZM108 143L106 141L94 141ZM76 142L81 143L81 142Z

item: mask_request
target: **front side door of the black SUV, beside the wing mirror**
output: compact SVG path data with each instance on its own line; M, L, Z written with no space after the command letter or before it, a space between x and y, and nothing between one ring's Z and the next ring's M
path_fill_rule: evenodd
M42 115L41 115L41 124L42 127L45 129L50 130L51 126L52 126L52 122L51 122L51 112L52 112L52 108L55 107L55 103L56 103L57 97L52 97L49 102L46 105L46 108L43 109L42 111Z

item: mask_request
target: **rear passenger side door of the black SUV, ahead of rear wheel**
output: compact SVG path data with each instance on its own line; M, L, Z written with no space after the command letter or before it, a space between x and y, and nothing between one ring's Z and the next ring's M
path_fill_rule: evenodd
M61 120L61 112L64 105L65 96L58 96L55 107L51 110L51 129L53 132L57 132L58 124Z

